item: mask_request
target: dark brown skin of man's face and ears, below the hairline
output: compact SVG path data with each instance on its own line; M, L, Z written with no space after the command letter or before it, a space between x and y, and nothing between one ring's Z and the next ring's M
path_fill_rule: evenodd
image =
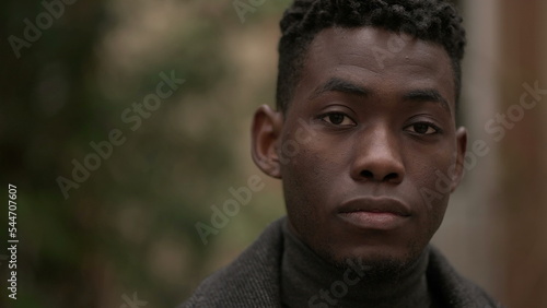
M462 178L466 131L456 129L450 58L406 37L379 61L373 47L387 50L394 35L322 31L288 110L261 106L254 117L253 158L282 179L290 228L335 264L416 260ZM435 187L435 171L449 189Z

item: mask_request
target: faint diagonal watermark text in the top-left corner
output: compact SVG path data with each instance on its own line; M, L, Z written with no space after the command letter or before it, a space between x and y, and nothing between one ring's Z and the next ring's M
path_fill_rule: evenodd
M23 20L25 28L21 37L15 35L10 35L8 37L8 42L10 43L15 58L21 58L21 49L31 48L33 43L38 42L38 39L42 38L43 32L50 28L56 20L65 15L67 5L72 5L77 1L78 0L42 1L44 11L36 15L34 22L30 19Z

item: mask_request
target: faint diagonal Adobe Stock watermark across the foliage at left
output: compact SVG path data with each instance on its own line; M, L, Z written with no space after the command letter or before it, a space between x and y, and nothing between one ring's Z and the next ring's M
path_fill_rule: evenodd
M165 72L161 72L159 75L162 81L155 86L155 92L144 96L142 103L132 103L131 107L121 111L120 120L128 126L130 131L138 130L142 126L143 120L149 119L152 112L161 107L163 99L171 97L186 82L184 79L176 78L175 71L171 71L170 75ZM91 141L89 143L91 152L81 162L75 158L71 161L73 165L72 177L57 177L57 185L65 200L69 198L71 189L80 188L90 178L91 173L97 170L103 161L112 156L115 146L120 146L126 141L127 137L118 128L112 129L106 140L98 142Z

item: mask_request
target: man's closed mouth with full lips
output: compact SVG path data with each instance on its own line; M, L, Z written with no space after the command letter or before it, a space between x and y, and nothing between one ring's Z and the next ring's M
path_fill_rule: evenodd
M393 198L359 198L338 208L342 222L360 229L396 229L408 221L410 209Z

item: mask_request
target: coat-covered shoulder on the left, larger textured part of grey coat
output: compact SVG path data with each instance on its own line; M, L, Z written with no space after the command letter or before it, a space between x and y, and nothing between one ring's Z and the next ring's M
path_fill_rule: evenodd
M237 259L207 277L181 307L277 307L284 220L271 223Z

